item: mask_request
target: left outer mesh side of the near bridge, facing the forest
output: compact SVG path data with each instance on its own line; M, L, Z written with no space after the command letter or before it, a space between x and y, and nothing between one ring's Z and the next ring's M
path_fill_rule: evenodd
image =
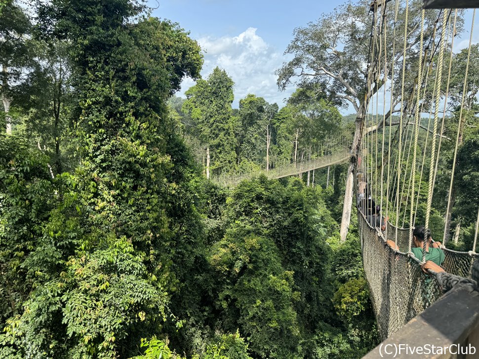
M362 214L358 218L373 310L379 333L387 338L434 303L441 288L408 255L393 251Z

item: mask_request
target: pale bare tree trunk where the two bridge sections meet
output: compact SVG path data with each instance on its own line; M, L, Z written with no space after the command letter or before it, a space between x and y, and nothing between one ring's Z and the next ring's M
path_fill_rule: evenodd
M364 118L362 115L362 106L358 109L356 115L356 130L354 133L353 144L351 146L351 160L349 161L348 173L346 175L346 190L344 192L344 204L343 215L341 218L341 228L339 235L341 242L346 241L346 235L348 234L349 223L351 222L351 207L353 205L353 172L356 166L358 148L361 142L362 129L364 127Z

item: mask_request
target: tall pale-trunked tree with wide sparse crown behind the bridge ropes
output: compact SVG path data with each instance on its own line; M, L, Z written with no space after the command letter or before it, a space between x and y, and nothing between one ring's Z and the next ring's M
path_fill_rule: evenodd
M374 4L373 4L374 5ZM370 58L369 39L371 35L371 24L373 14L376 19L382 18L382 11L387 8L386 26L388 39L395 42L395 46L389 46L388 58L393 59L394 67L390 66L387 71L384 67L381 73L377 72L374 58ZM348 3L337 7L332 13L323 14L316 22L310 23L307 27L297 28L294 31L294 38L287 47L285 53L293 56L293 59L285 63L277 71L278 86L286 88L288 84L297 79L303 86L316 84L318 88L324 89L327 99L333 103L340 103L343 106L352 106L356 111L356 130L353 140L353 156L348 168L346 190L344 196L343 218L341 221L341 239L346 239L353 199L353 170L356 163L354 154L358 148L360 134L363 128L363 111L369 99L374 96L386 83L386 78L391 79L394 69L395 76L400 73L402 62L407 61L411 68L417 68L421 31L417 24L420 23L422 1L416 0L410 4L408 12L408 23L405 24L405 8L399 7L398 20L395 21L394 11L391 6L382 2L379 3L378 11L372 9L369 1ZM425 41L433 35L440 36L440 31L435 32L438 14L436 11L427 11L425 19ZM393 36L394 29L402 33L407 26L407 58L402 58L403 38ZM402 29L402 30L401 30ZM379 41L372 42L372 49L377 54ZM392 53L393 48L395 53ZM372 83L365 86L367 69L364 64L370 64L370 78ZM414 65L415 64L415 65ZM405 79L407 88L413 88L415 81L414 71L409 71ZM391 81L390 81L391 82ZM393 86L392 107L387 113L389 116L400 110L397 107L403 99L400 98L400 81L395 81ZM405 104L402 104L405 105ZM388 123L389 124L389 123ZM372 130L372 129L369 129Z

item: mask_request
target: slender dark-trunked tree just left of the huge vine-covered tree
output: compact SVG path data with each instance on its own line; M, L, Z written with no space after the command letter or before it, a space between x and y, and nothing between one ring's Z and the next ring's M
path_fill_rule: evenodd
M14 108L23 113L26 133L50 157L51 173L61 173L65 165L71 168L74 158L71 149L74 138L63 143L73 130L68 115L74 103L69 49L63 41L32 41L32 45L36 61L17 86ZM63 150L67 152L65 155Z

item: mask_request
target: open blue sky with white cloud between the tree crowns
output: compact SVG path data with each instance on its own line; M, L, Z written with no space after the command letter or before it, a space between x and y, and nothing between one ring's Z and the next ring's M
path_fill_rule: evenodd
M262 96L281 107L293 88L279 92L275 70L287 59L284 50L293 30L316 21L343 0L149 0L153 15L178 22L206 50L201 74L215 66L224 68L235 81L235 101L248 93ZM179 96L194 82L187 79Z

